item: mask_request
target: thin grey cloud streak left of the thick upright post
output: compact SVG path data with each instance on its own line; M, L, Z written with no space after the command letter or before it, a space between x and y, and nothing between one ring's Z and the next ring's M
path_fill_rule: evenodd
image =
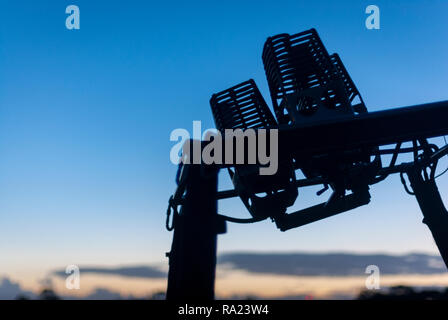
M115 268L104 268L104 267L80 267L79 271L81 274L103 274L103 275L115 275L122 277L137 277L137 278L149 278L149 279L160 279L166 278L166 272L160 271L156 267L151 266L128 266L128 267L115 267ZM52 273L53 275L59 277L67 277L65 270L56 270Z

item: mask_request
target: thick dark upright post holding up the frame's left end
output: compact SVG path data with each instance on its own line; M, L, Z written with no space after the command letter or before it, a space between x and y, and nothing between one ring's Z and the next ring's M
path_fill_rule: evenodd
M174 217L167 300L213 300L217 234L225 232L217 216L218 168L188 166L185 199Z

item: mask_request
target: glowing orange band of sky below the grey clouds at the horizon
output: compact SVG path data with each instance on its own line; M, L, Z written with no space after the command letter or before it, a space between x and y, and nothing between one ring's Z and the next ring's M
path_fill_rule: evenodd
M314 299L350 299L356 298L362 290L366 289L367 276L367 274L365 276L290 276L218 269L216 297L232 299L250 296L261 299L281 299L282 297L312 296ZM17 279L14 280L17 281ZM116 275L82 275L79 290L67 289L63 278L52 277L51 280L52 288L58 295L79 299L89 296L97 289L119 293L123 299L128 297L149 298L154 293L164 292L166 289L166 279L144 279ZM36 294L42 290L42 284L38 281L20 284ZM381 288L396 285L448 287L448 274L381 276Z

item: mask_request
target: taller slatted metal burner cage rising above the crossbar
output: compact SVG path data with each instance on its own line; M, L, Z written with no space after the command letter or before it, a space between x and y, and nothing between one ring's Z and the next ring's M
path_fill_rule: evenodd
M280 124L301 125L366 111L341 60L328 54L315 29L269 37L262 59ZM356 97L361 103L354 107Z

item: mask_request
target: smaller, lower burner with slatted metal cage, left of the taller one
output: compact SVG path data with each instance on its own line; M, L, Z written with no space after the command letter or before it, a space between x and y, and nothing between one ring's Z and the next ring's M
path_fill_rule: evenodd
M216 128L223 135L226 129L277 129L277 122L252 79L214 94L210 106ZM282 159L278 172L272 176L261 176L258 165L247 164L229 168L229 174L238 195L256 219L283 214L298 195L290 159Z

